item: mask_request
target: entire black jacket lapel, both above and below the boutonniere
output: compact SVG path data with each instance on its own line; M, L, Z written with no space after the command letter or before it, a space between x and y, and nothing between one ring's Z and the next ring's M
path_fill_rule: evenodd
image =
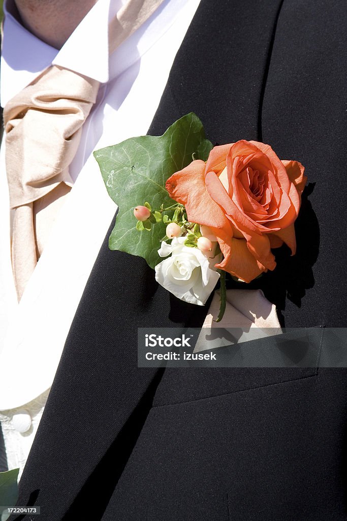
M195 111L214 143L256 139L279 5L202 0L148 133L160 135ZM137 368L137 328L198 327L204 315L204 307L157 287L142 258L109 251L107 234L60 359L18 504L40 504L52 521L81 512L101 517L161 378L161 369Z

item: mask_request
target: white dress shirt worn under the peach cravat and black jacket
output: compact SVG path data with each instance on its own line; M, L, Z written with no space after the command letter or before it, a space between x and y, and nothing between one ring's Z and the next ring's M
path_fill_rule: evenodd
M24 29L11 1L5 3L2 106L51 64L101 82L70 167L73 188L19 304L10 258L5 140L0 151L0 420L10 469L22 472L73 316L117 208L92 152L147 133L199 2L166 0L110 57L108 22L121 0L98 0L60 51Z

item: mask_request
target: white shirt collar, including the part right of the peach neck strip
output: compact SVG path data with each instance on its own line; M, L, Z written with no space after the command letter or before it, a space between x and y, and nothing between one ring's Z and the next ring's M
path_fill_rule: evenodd
M100 83L119 76L159 40L190 0L165 0L143 26L116 49L110 59L109 21L125 1L98 0L58 51L25 29L16 19L14 0L5 0L0 71L2 107L52 64ZM97 38L93 38L96 34Z

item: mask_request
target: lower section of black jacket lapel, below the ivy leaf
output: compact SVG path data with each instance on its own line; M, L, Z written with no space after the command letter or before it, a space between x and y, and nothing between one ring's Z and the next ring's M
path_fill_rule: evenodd
M156 286L143 259L111 252L105 240L20 481L20 501L40 490L37 501L47 519L61 519L113 442L118 453L108 483L117 482L120 460L130 455L158 379L157 370L137 368L137 327L183 326L191 312L192 306ZM102 490L101 510L108 500L108 488ZM65 499L55 503L53 497Z

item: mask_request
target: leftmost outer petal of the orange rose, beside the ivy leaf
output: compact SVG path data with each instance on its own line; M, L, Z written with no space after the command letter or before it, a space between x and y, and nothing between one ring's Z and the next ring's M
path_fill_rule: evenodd
M171 199L184 204L188 220L210 228L224 228L230 237L232 228L223 210L211 199L205 186L205 163L193 161L166 181Z

